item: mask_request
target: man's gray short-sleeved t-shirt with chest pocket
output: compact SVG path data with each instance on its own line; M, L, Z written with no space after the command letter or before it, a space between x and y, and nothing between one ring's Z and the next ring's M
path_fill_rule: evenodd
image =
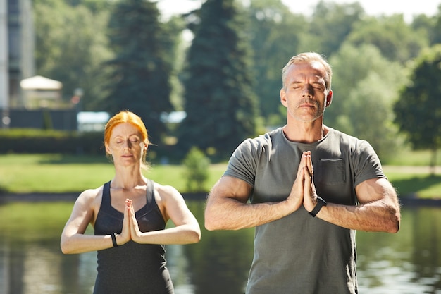
M237 147L224 176L254 190L251 203L290 194L302 152L311 151L316 191L327 202L356 205L355 187L385 178L371 145L332 128L312 144L290 142L282 128ZM256 227L247 294L358 293L355 231L297 212Z

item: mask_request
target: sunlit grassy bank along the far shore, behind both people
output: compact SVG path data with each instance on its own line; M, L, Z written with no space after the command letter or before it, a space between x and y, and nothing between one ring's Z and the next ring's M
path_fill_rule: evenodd
M407 167L409 160L428 160L429 154L403 155L395 159L393 169L385 166L385 173L400 195L441 197L441 169L430 176L429 169ZM408 160L406 160L408 159ZM398 164L402 165L397 166ZM226 164L213 164L209 170L208 191L221 177ZM406 166L406 167L405 167ZM155 165L145 176L164 185L186 191L185 169L177 165ZM113 165L104 156L66 156L61 154L0 155L0 191L4 192L80 192L96 188L113 177Z

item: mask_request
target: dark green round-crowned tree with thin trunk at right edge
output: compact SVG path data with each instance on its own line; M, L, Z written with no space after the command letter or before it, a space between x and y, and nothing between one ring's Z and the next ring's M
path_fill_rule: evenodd
M414 149L432 150L430 166L435 172L436 153L441 147L441 44L423 51L402 88L394 111L399 130Z

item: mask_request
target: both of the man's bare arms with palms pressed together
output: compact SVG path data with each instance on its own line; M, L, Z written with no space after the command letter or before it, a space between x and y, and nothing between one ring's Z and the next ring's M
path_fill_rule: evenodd
M211 189L205 209L205 226L213 230L252 228L281 219L300 207L313 212L318 204L313 183L311 152L303 152L290 195L280 202L249 204L253 187L239 178L223 176ZM392 185L384 178L365 180L356 186L359 206L330 203L314 213L324 221L363 231L397 231L399 205Z

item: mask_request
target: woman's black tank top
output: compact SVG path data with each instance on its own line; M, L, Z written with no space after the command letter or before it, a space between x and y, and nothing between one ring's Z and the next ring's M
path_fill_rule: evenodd
M110 183L105 183L95 235L120 233L124 214L111 206ZM154 183L147 180L147 204L135 213L142 232L163 230L166 223L154 197ZM129 241L97 252L94 294L173 294L163 245Z

